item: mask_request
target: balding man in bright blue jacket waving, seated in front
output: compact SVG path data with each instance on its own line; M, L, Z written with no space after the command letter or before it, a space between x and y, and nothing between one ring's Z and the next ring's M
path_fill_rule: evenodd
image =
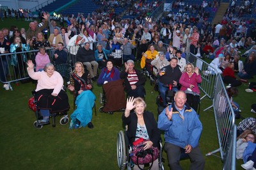
M182 150L191 160L189 169L204 169L205 160L198 146L202 123L198 115L186 103L186 93L177 91L174 103L166 107L158 117L157 127L164 130L164 150L170 169L182 169L179 164Z

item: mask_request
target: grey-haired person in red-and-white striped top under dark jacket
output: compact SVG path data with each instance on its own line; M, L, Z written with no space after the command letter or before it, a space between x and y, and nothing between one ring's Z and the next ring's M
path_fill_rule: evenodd
M145 78L140 70L134 68L134 61L129 59L125 63L125 70L120 73L120 78L124 79L125 90L129 97L141 97L145 98Z

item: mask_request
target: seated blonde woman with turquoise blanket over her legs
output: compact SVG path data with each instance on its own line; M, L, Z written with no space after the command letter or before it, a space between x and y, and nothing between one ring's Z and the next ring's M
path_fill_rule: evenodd
M83 63L76 62L74 71L70 75L68 89L76 92L77 109L71 114L72 119L70 128L85 127L93 128L92 107L94 105L95 95L92 91L92 81L87 70L84 70Z

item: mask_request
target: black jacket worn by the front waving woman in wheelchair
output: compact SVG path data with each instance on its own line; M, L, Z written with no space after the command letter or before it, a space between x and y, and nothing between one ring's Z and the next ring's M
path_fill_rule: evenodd
M157 123L152 112L144 111L143 119L147 128L148 136L154 147L159 148L160 130L157 128ZM136 136L138 117L134 111L126 118L123 114L122 120L124 125L128 125L127 137L130 143L133 143Z

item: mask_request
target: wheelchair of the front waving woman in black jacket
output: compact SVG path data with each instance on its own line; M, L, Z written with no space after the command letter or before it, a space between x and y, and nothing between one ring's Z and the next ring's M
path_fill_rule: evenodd
M117 155L117 163L118 167L121 170L128 169L131 170L132 167L134 167L134 163L131 160L130 154L132 153L132 145L129 144L129 139L126 135L127 131L124 132L120 130L117 135L116 140L116 155ZM158 157L158 164L159 164L159 170L164 170L163 162L162 162L162 150L163 145L161 143L162 141L159 140L159 157Z

